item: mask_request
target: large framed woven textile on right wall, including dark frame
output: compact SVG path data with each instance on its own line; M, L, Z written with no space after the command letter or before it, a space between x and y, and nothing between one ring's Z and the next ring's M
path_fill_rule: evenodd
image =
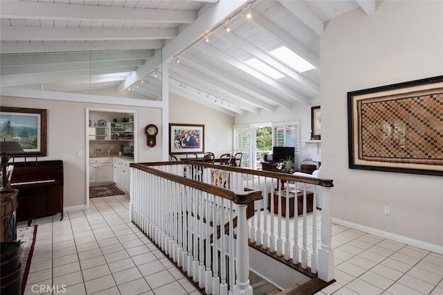
M349 168L443 176L443 75L347 93Z

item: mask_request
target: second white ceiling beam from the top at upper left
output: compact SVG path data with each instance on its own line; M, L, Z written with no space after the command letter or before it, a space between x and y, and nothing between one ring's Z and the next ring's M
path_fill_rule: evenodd
M1 30L3 41L54 40L148 40L173 39L175 28L35 28L6 27Z

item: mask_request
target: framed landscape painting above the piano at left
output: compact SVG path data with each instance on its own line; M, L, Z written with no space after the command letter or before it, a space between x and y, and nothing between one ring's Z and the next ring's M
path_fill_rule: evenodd
M0 140L18 141L16 157L46 157L46 109L0 107Z

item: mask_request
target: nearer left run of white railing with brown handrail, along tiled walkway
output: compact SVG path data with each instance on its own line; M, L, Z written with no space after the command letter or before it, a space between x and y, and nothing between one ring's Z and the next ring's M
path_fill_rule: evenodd
M210 171L179 166L133 165L132 222L206 294L252 295L246 206L261 192L233 193L186 179L181 176L185 168L199 180L210 177Z

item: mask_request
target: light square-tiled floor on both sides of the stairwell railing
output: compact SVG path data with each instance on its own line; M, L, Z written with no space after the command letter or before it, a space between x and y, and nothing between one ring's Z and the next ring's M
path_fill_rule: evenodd
M128 204L95 198L62 221L35 220L25 294L199 294L129 222ZM336 282L318 294L443 295L443 255L338 224L332 234Z

